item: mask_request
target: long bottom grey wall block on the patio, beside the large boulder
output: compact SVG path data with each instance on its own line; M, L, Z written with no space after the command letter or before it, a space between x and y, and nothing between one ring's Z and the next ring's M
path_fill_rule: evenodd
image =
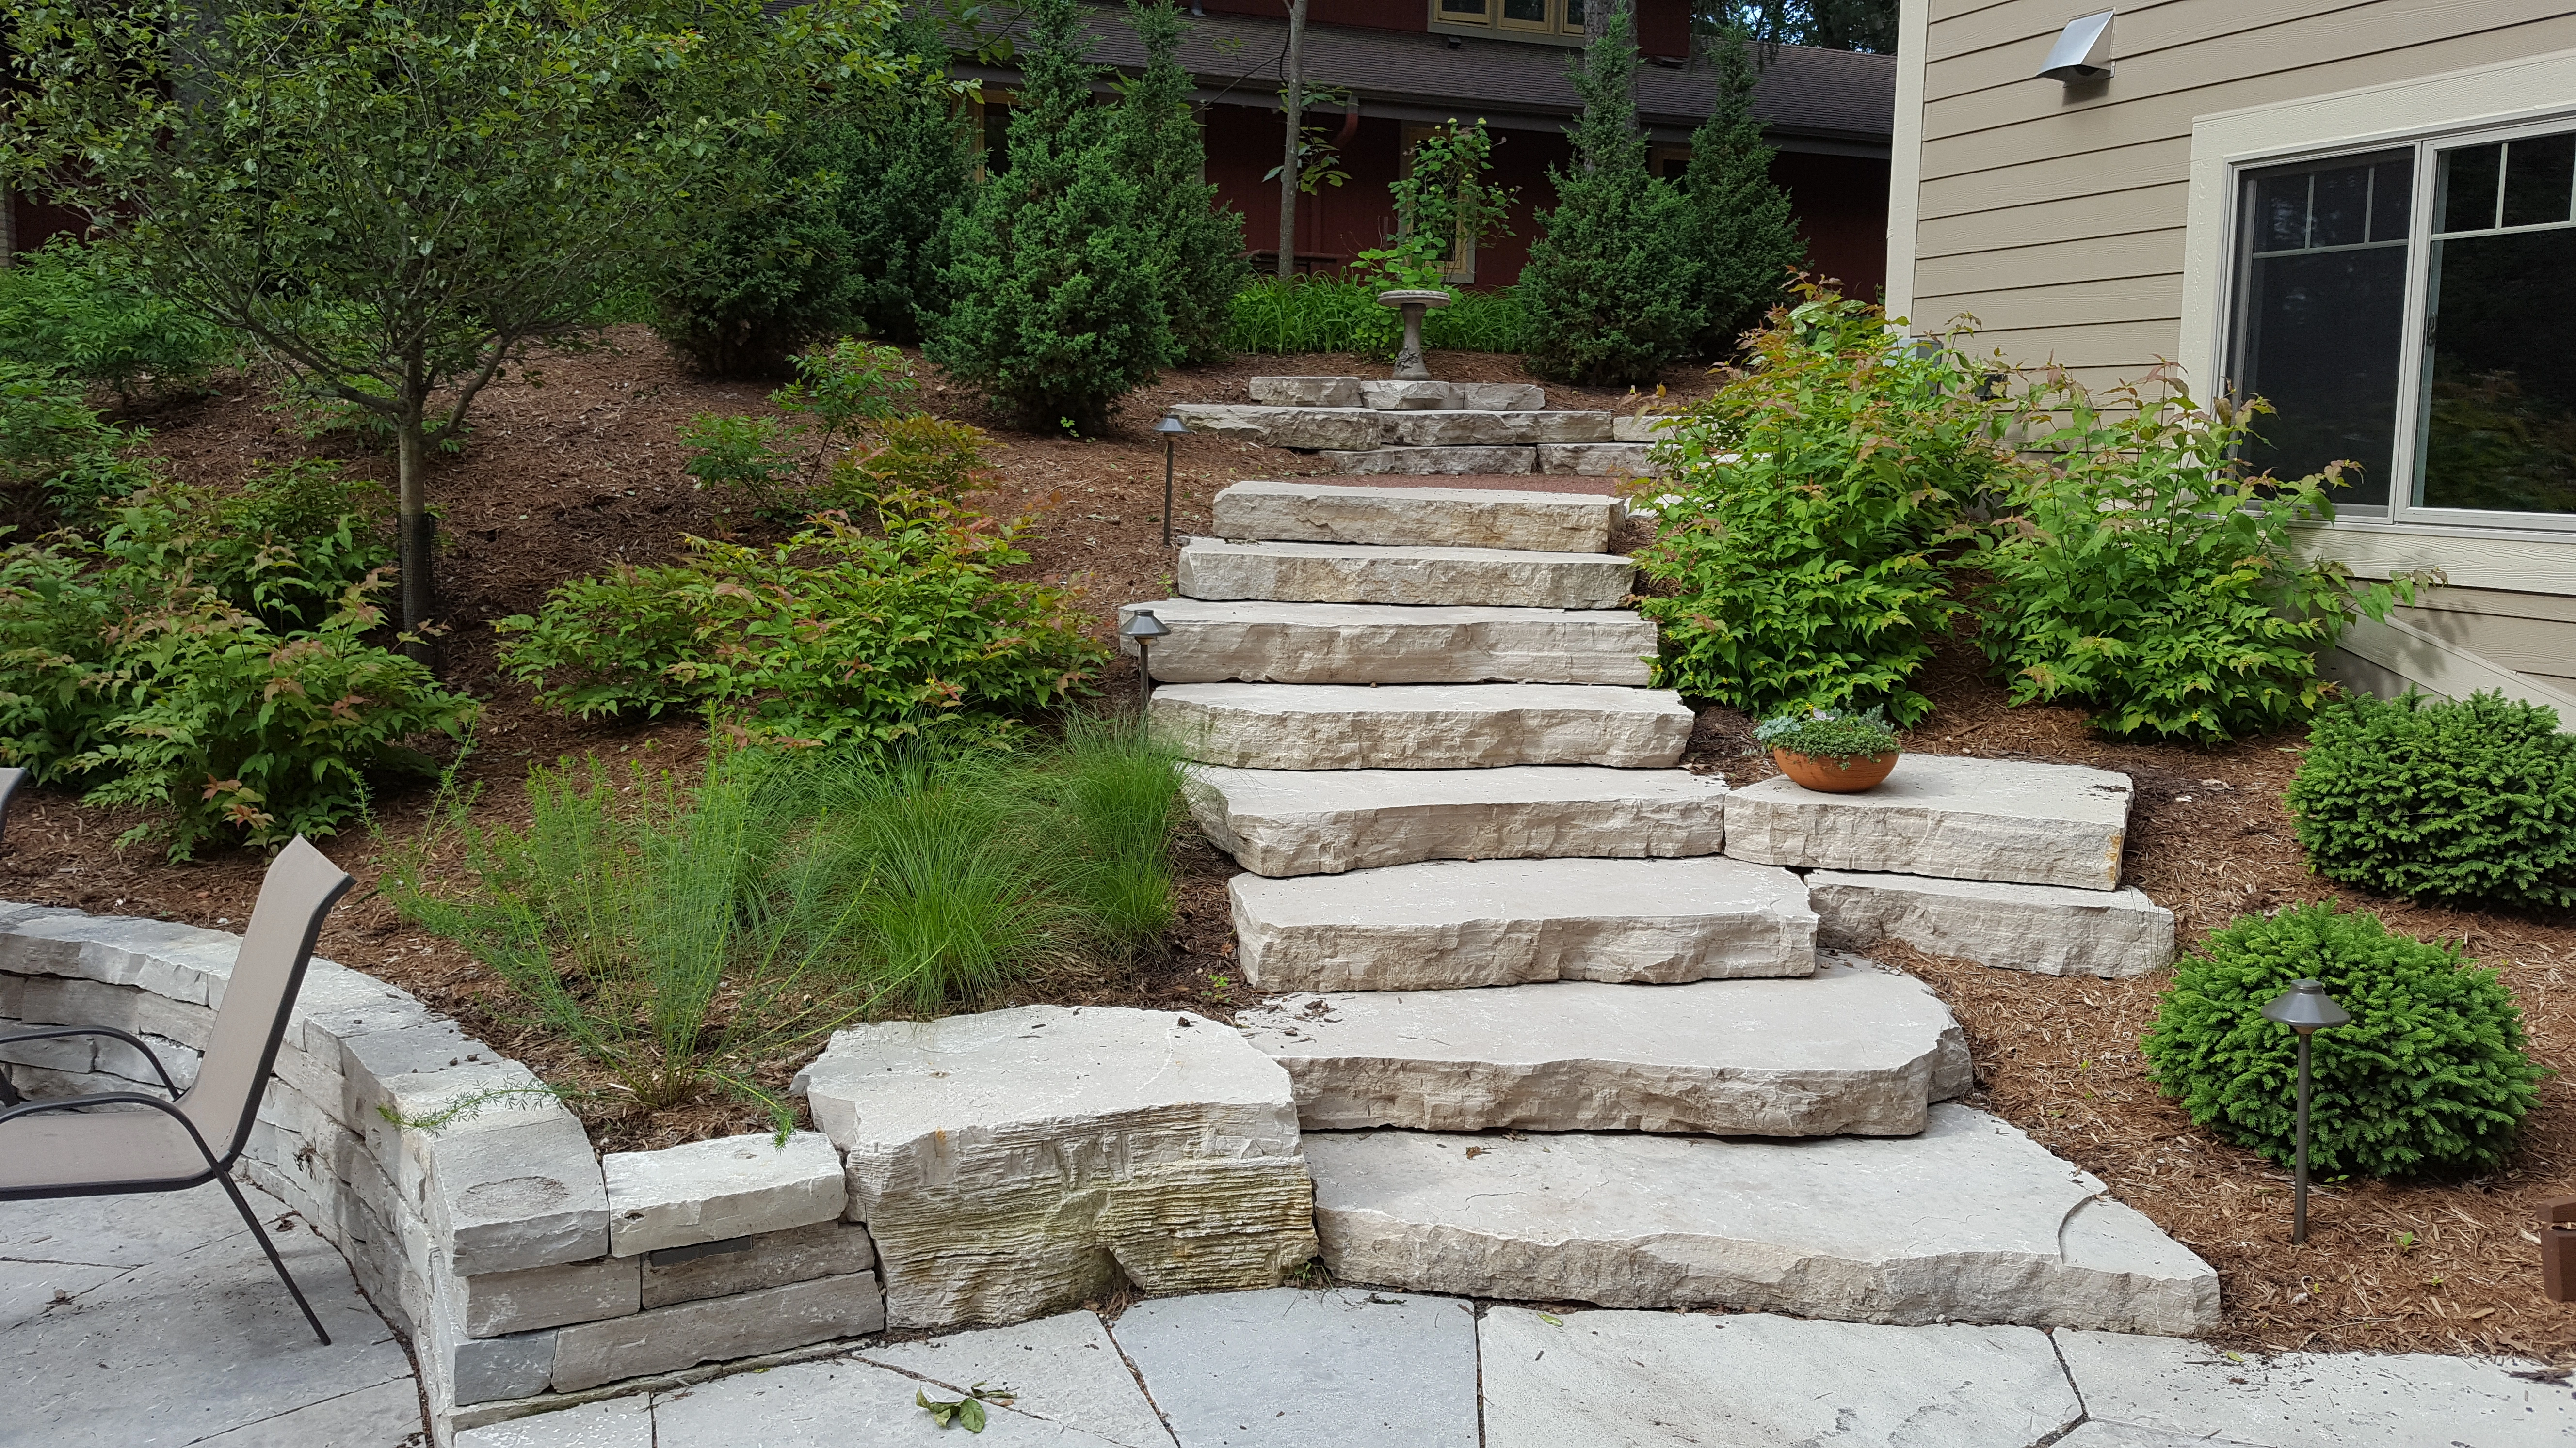
M698 1363L783 1353L884 1327L886 1299L876 1286L876 1273L685 1301L556 1329L554 1389L569 1394L618 1378L677 1373Z

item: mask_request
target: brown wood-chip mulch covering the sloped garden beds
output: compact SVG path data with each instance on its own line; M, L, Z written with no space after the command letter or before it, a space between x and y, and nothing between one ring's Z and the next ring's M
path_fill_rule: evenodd
M489 701L479 752L461 770L484 791L477 804L484 819L523 814L520 781L536 763L644 752L690 770L703 757L698 724L567 721L536 709L523 685L495 672L489 624L533 611L554 582L613 559L667 559L680 549L680 533L716 536L737 526L716 497L690 487L675 433L693 412L765 410L768 389L696 379L644 330L616 330L605 343L544 358L533 379L513 374L495 384L477 407L464 453L443 459L433 479L451 541L440 564L453 624L446 672ZM1170 559L1159 549L1162 446L1146 430L1167 405L1242 399L1255 374L1370 374L1376 366L1303 356L1175 374L1136 394L1105 435L1082 441L1010 430L935 368L925 368L922 405L987 425L1007 443L994 456L999 487L984 505L1038 518L1028 572L1082 585L1105 634L1118 603L1170 593ZM1473 353L1435 356L1432 368L1463 381L1522 376L1517 358ZM1698 374L1669 381L1682 397L1708 389ZM281 417L263 410L268 402L258 386L232 384L219 397L167 407L144 423L155 430L155 451L193 479L234 479L260 459L294 456L340 456L355 472L389 479L384 459L348 446L312 446L281 430ZM1551 407L1618 402L1618 394L1551 386ZM1278 464L1280 453L1265 448L1182 438L1177 531L1206 531L1216 490L1242 477L1278 477ZM1515 484L1530 482L1556 479ZM752 526L742 531L760 536ZM1108 688L1108 706L1133 709L1131 665L1113 665ZM1906 737L1909 750L2087 763L2136 778L2123 884L2172 907L2184 943L2249 910L2342 894L2409 935L2465 940L2483 964L2504 971L2524 1007L2532 1054L2561 1072L2543 1082L2540 1108L2509 1170L2463 1183L2329 1185L2311 1201L2311 1242L2290 1247L2282 1172L2197 1131L2143 1074L2138 1031L2154 1018L2161 976L2056 979L1883 951L1932 982L1958 1013L1978 1062L1971 1103L2092 1170L2117 1201L2208 1257L2226 1288L2218 1337L2228 1345L2524 1353L2576 1363L2576 1306L2540 1299L2532 1244L2540 1201L2576 1196L2576 1087L2566 1074L2576 1072L2576 920L2411 907L2318 881L2306 871L2280 801L2298 765L2298 737L2218 750L2112 745L2084 727L2081 711L2004 709L2002 688L1968 647L1942 654L1927 693L1937 711ZM1687 763L1734 783L1772 773L1752 750L1752 724L1726 709L1703 711ZM379 835L353 830L325 843L361 879L361 894L332 915L322 951L402 984L551 1080L598 1085L562 1043L515 1015L489 971L410 930L392 907L363 894L376 858L417 835L428 804L420 788L389 794L379 801ZM113 840L134 819L131 812L90 809L62 794L21 794L0 845L0 876L8 879L0 894L240 928L265 861L227 850L170 866L152 845L116 850ZM1180 866L1182 917L1164 956L1115 976L1028 982L992 1005L1141 1005L1229 1018L1249 1000L1231 979L1226 876L1234 871L1195 837L1180 845ZM775 1062L765 1077L783 1082L791 1067ZM577 1108L605 1149L647 1149L765 1123L729 1103L657 1118L629 1116L605 1095Z

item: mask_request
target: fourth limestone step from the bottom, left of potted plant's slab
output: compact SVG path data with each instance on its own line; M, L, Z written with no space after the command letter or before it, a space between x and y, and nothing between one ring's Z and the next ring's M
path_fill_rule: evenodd
M1262 876L1417 861L1677 858L1726 848L1726 781L1687 770L1236 770L1193 765L1190 817Z

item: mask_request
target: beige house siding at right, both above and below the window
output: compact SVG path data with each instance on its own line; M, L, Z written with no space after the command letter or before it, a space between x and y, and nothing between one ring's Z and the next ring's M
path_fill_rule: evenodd
M2215 286L2187 258L2208 247L2190 232L2195 121L2576 52L2568 0L2112 0L2117 75L2038 80L2066 21L2105 3L1904 0L1888 206L1893 314L1917 332L1973 317L1978 350L2094 386L2210 356L2184 332L2218 314L2187 294ZM2535 698L2576 693L2576 536L2383 526L2308 541L2362 575L2452 577L2347 678L2458 688L2494 665Z

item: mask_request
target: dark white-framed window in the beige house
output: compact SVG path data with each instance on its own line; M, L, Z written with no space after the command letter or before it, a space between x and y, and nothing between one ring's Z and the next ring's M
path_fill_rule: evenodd
M2226 384L2246 461L2352 461L2362 518L2576 528L2576 129L2236 173Z

